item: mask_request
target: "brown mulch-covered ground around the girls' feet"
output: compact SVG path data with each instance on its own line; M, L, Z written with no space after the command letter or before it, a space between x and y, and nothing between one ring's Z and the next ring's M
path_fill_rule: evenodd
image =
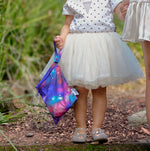
M139 80L124 85L110 86L107 89L108 107L102 129L108 135L106 144L149 143L150 132L147 123L133 125L127 117L145 110L145 81ZM92 96L88 97L87 141L92 142L91 113ZM76 128L73 109L55 125L46 108L32 107L19 111L26 116L13 123L0 125L0 129L15 145L46 145L71 143ZM8 141L0 134L1 145Z

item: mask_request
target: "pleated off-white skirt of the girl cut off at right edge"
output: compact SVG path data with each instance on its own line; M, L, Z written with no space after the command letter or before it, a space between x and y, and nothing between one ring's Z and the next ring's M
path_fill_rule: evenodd
M150 0L130 0L122 34L125 41L150 41Z

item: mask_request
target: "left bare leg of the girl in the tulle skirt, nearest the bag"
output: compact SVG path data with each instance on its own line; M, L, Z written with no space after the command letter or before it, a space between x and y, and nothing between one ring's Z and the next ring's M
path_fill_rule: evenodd
M79 96L74 105L77 128L86 128L87 95L89 90L82 87L78 87L77 90Z

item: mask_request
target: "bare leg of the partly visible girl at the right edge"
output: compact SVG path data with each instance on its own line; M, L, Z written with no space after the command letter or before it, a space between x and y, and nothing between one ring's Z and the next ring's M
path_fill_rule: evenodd
M150 41L142 42L142 49L146 69L146 95L145 95L146 113L148 124L150 127Z

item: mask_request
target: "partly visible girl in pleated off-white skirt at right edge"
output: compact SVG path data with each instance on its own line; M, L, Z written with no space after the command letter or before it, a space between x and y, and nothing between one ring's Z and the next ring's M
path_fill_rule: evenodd
M129 0L124 3L128 6ZM146 69L146 112L150 126L150 0L130 0L122 39L142 45Z

